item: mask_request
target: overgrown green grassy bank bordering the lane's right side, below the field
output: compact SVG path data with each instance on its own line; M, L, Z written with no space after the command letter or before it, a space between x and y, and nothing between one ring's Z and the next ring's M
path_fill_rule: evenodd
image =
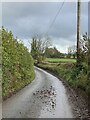
M88 93L87 69L83 67L81 71L76 68L75 63L71 64L38 64L38 67L47 70L58 78L62 78L75 89L79 88Z

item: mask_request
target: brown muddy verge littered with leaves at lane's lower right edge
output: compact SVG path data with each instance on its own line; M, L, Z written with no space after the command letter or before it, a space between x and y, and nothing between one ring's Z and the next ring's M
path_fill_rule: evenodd
M72 112L76 118L88 118L89 114L89 101L88 97L82 90L71 88L71 86L63 83L66 88L69 102L72 106Z

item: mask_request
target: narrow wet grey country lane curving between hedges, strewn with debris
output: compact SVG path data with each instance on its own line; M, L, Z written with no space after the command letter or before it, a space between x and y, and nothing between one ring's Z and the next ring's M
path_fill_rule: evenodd
M3 118L72 118L62 82L35 67L35 80L3 102Z

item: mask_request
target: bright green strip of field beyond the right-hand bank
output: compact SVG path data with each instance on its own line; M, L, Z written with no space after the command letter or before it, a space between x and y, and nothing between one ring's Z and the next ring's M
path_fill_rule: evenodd
M47 62L57 63L57 62L72 62L75 63L76 59L66 59L66 58L46 58Z

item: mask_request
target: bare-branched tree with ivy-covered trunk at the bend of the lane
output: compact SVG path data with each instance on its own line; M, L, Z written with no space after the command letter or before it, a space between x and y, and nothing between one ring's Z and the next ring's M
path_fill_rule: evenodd
M40 62L44 58L44 52L47 47L51 46L49 38L41 38L38 35L32 38L31 54L34 59Z

